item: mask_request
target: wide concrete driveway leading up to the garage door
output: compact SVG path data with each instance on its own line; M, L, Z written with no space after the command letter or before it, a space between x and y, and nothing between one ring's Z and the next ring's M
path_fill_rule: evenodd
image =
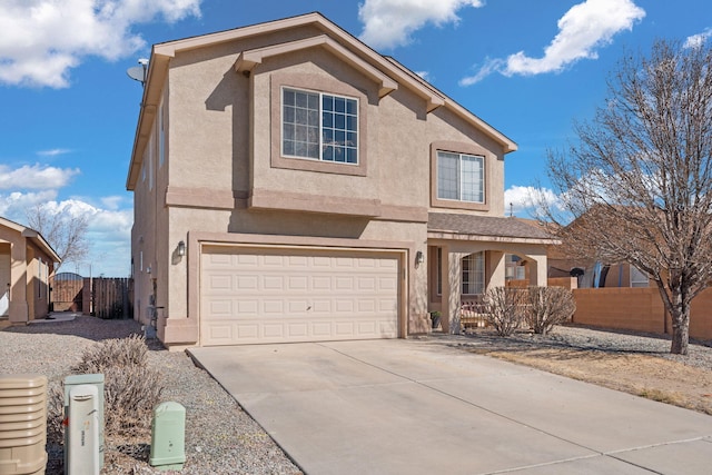
M189 352L309 475L712 473L710 416L443 340Z

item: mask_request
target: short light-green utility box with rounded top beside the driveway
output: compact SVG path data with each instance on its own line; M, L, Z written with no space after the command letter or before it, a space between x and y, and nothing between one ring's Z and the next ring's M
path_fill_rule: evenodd
M161 403L154 409L149 464L161 471L179 471L186 463L186 408Z

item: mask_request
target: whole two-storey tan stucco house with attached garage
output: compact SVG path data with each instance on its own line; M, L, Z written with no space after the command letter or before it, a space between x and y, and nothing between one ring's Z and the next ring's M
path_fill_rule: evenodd
M156 44L127 188L135 315L168 346L458 331L505 255L506 136L318 13Z

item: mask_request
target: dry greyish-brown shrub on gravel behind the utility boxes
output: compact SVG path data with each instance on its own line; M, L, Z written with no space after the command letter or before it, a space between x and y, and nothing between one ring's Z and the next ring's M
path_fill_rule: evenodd
M148 366L144 337L134 335L93 345L71 369L79 374L103 374L107 437L150 431L154 407L164 387L159 373Z

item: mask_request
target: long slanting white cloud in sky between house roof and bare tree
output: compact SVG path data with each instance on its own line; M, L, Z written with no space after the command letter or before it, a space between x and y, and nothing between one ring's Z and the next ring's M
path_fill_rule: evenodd
M645 10L632 0L586 0L558 20L558 34L544 49L542 58L531 58L520 51L506 60L490 59L476 75L462 79L461 85L474 85L492 72L504 76L558 72L581 59L596 59L600 48L611 43L616 33L631 30L644 17Z

